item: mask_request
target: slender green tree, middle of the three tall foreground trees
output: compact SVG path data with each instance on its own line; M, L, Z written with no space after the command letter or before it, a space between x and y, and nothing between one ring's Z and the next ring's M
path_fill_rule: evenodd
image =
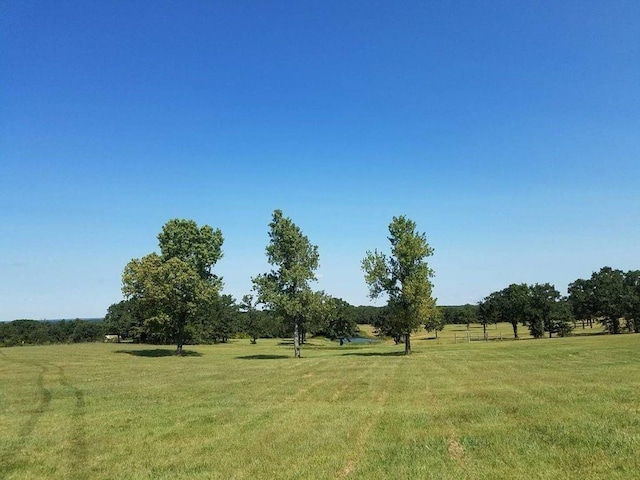
M293 329L294 356L300 357L300 339L309 310L310 282L316 280L320 256L302 230L275 210L269 223L267 260L274 268L252 279L258 301L284 318Z

